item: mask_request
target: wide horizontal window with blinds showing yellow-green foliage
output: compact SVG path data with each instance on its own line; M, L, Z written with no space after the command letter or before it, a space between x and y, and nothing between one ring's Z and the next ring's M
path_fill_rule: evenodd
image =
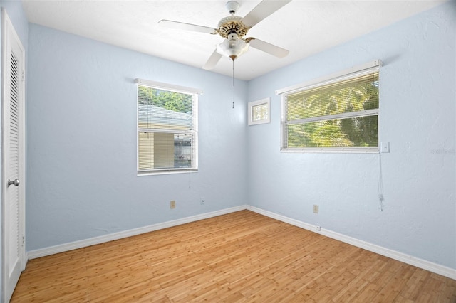
M281 151L378 151L380 64L278 91Z

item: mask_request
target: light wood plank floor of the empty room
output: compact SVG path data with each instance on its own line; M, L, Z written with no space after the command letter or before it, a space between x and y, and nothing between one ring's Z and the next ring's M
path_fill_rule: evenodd
M456 302L456 280L239 211L30 260L11 302Z

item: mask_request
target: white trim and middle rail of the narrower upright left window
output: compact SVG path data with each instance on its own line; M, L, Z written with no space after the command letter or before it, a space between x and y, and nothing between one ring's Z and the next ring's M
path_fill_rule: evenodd
M199 157L199 152L198 152L198 102L199 102L199 97L198 95L202 95L203 91L192 88L192 87L184 87L180 85L172 85L172 84L167 84L167 83L160 83L152 80L144 80L140 78L135 79L136 83L136 173L137 176L150 176L150 175L160 175L160 174L184 174L184 173L192 173L192 172L197 172L198 167L199 167L199 162L198 162L198 157ZM138 87L139 85L141 86L147 86L147 87L152 87L158 90L167 90L167 91L172 91L172 92L179 92L187 95L193 95L193 100L192 100L192 126L193 129L191 131L185 132L185 131L180 131L180 130L168 130L168 129L145 129L139 126L139 106L138 106ZM139 156L139 132L160 132L160 133L172 133L172 134L192 134L194 140L193 140L193 147L195 151L195 155L193 156L192 163L194 163L193 167L187 167L187 168L167 168L167 169L140 169L140 156Z

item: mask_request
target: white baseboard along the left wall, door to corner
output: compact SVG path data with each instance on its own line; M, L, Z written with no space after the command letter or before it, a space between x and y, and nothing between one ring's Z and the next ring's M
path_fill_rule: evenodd
M71 243L65 243L61 245L55 245L48 248L42 248L38 250L31 250L27 252L28 260L35 259L37 257L45 257L47 255L53 255L59 252L67 252L69 250L76 250L78 248L85 248L90 245L101 244L113 240L118 240L122 238L128 238L133 235L140 235L142 233L150 233L151 231L160 230L163 228L170 228L172 226L182 225L185 223L195 222L198 220L203 220L207 218L217 217L225 215L227 213L234 213L235 211L242 211L247 209L246 205L236 206L232 208L225 208L221 211L213 211L211 213L202 213L197 216L186 217L178 220L171 220L163 223L157 223L153 225L148 225L142 228L135 228L131 230L121 231L119 233L110 233L108 235L100 235L95 238L90 238L86 240L75 241Z

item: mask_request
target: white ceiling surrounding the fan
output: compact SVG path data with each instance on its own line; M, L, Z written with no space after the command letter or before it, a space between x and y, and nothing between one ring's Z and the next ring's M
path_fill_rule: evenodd
M290 51L275 58L250 48L234 62L235 78L250 80L309 55L383 28L445 0L310 1L294 0L247 34ZM28 21L115 46L202 68L223 38L158 25L161 19L217 28L229 16L225 0L94 1L22 0ZM260 0L238 0L245 16ZM246 37L247 37L246 36ZM373 58L374 59L374 58ZM222 58L213 70L232 75L232 61Z

